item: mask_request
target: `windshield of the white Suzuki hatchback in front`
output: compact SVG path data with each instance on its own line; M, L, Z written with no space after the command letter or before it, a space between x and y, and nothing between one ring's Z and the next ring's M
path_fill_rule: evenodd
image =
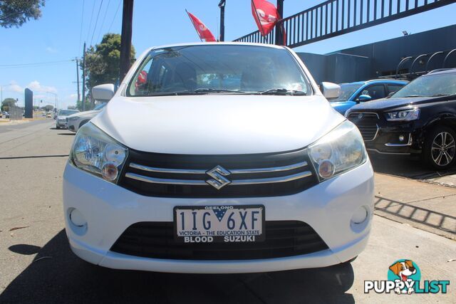
M284 48L197 45L150 51L127 92L129 96L193 94L310 95L311 87Z

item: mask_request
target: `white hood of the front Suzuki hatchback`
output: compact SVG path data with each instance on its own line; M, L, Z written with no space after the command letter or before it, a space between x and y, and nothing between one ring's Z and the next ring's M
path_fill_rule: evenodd
M296 150L343 122L320 95L115 97L91 122L134 150L249 154Z

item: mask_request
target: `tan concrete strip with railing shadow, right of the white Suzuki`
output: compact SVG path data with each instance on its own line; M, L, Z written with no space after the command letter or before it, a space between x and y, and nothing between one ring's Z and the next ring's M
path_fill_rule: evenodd
M378 216L456 240L456 189L375 173Z

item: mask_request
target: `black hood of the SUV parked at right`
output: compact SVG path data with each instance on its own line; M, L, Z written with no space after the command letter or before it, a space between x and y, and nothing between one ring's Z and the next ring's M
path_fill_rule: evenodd
M410 97L410 98L383 98L372 100L365 103L358 103L350 109L355 110L390 110L393 108L404 107L406 105L420 105L423 103L432 103L447 100L445 97Z

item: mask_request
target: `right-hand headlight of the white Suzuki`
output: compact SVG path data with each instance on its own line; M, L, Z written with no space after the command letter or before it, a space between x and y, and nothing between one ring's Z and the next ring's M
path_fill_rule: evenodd
M309 156L320 182L366 162L363 137L346 120L309 147Z

